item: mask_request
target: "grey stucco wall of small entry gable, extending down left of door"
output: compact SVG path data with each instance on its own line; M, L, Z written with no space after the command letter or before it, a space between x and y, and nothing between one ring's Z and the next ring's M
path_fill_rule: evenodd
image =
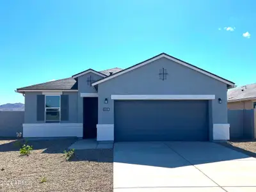
M94 81L98 81L103 77L98 76L93 73L84 74L83 76L78 77L78 92L77 92L77 122L83 123L83 97L81 93L97 93L93 86L87 83L88 77L92 76Z

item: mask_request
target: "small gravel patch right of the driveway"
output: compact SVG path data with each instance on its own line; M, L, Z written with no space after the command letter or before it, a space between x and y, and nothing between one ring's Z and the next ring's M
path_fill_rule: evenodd
M227 141L227 143L220 144L239 152L243 152L248 156L256 157L256 140Z

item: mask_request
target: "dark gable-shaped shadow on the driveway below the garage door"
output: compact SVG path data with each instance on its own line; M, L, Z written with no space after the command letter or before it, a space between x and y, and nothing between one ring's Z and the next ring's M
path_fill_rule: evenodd
M246 154L212 142L118 142L114 147L115 163L165 168L248 158Z

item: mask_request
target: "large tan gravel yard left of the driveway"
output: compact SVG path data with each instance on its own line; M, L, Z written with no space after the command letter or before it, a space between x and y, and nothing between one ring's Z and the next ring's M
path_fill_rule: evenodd
M0 191L113 191L113 150L75 150L65 161L75 141L29 141L34 150L20 156L15 140L0 139Z

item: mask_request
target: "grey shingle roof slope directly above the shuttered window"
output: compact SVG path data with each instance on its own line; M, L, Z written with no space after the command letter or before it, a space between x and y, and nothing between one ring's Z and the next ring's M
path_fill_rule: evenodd
M17 92L24 92L24 90L77 90L77 81L72 77L69 77L66 79L59 79L56 81L17 88Z

